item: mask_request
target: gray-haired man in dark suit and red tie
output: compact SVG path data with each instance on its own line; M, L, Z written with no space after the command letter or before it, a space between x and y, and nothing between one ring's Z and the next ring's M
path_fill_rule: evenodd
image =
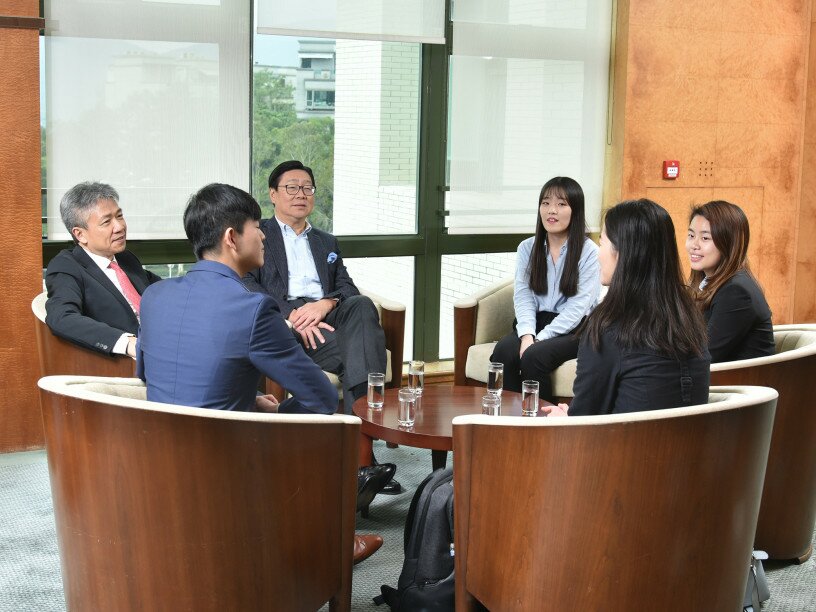
M76 246L48 264L45 322L80 346L135 357L140 296L161 278L125 250L119 194L103 183L80 183L63 196L60 215Z

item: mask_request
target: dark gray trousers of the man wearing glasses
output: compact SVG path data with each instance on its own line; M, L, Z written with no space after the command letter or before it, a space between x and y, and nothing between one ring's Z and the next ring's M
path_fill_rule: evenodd
M307 300L291 300L302 306ZM334 331L320 330L326 339L317 348L306 348L306 354L322 370L336 374L343 384L344 412L351 414L351 405L357 399L351 389L365 383L369 372L385 372L385 332L380 326L377 308L370 298L355 295L342 300L325 322ZM298 340L300 334L294 332ZM357 394L359 397L359 393Z

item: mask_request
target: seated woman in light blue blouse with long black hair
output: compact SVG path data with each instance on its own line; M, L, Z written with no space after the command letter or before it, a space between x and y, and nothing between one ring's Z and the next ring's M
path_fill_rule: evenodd
M572 333L598 301L598 247L586 236L584 191L557 176L541 188L536 233L518 246L513 331L499 340L491 361L504 364L504 388L521 391L537 380L552 400L550 372L578 355Z

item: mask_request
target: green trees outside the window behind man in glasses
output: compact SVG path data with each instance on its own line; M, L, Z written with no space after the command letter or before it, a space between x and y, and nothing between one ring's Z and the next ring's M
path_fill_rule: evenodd
M269 173L279 163L299 159L311 167L318 190L310 221L331 231L334 205L334 119L298 119L293 88L284 77L256 69L253 79L252 195L264 217L271 216Z

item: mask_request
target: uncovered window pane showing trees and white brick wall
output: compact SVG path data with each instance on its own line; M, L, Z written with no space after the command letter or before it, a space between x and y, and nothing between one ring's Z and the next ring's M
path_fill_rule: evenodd
M299 159L318 184L315 227L337 235L416 232L420 45L257 35L253 195Z

